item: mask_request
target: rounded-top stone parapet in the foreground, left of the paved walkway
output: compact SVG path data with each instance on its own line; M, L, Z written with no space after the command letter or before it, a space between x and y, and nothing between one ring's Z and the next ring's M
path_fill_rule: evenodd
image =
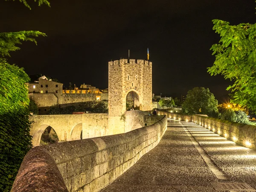
M99 191L154 148L166 128L162 116L153 125L125 134L35 147L26 154L12 192Z

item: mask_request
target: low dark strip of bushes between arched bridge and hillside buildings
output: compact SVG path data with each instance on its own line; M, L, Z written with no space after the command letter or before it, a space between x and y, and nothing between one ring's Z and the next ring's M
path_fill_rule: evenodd
M75 111L90 111L92 113L108 113L108 102L105 101L87 101L78 106L60 107L59 105L52 106L49 109L50 115L56 114L72 114Z

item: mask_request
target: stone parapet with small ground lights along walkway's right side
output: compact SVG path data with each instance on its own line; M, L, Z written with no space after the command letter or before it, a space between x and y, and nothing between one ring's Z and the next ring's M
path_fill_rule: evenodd
M256 149L255 125L245 125L201 115L193 115L193 122L197 123L198 125L202 125L203 127L208 128L209 130L226 137L229 140L233 140L239 145ZM220 131L220 133L218 133L218 131ZM225 136L225 134L227 135ZM234 140L233 137L236 137L236 140ZM251 145L246 145L246 141L250 142Z

